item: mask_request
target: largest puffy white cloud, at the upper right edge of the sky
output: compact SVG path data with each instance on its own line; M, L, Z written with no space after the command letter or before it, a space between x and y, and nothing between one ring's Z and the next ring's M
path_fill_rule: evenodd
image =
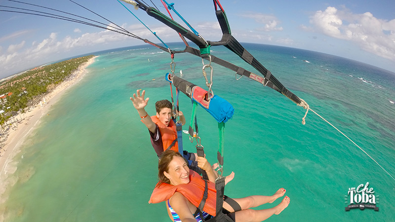
M395 19L378 19L370 12L353 14L327 7L310 17L315 32L352 41L363 50L395 61Z

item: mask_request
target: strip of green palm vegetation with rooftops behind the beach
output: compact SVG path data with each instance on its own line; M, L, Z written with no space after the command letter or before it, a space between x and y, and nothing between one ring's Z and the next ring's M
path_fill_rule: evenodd
M87 62L93 55L70 59L67 61L38 67L24 74L1 82L0 95L0 124L3 124L17 112L25 113L28 107L40 102L42 96L67 79L79 65ZM8 96L9 93L12 95Z

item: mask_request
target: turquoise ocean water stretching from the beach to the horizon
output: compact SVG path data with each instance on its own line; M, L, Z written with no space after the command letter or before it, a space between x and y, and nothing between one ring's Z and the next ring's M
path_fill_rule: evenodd
M312 51L244 45L282 84L395 176L394 73ZM212 50L257 73L226 48ZM163 203L148 204L158 160L129 100L136 89L145 89L150 114L155 114L155 101L170 100L164 80L170 58L147 45L98 55L89 74L53 105L14 158L17 170L8 180L15 185L0 205L6 221L170 221ZM177 74L182 70L183 78L204 86L201 59L184 53L176 54L175 62ZM246 77L237 81L234 72L216 64L213 68L214 93L235 108L225 132L225 174L236 173L225 188L228 196L271 195L286 188L291 203L268 219L273 222L395 220L395 181L365 153L311 111L302 125L305 110L278 92ZM192 106L185 95L180 107L189 122ZM201 144L214 163L217 124L202 109L197 117ZM195 148L188 137L183 139L184 149ZM349 188L367 182L379 212L346 212Z

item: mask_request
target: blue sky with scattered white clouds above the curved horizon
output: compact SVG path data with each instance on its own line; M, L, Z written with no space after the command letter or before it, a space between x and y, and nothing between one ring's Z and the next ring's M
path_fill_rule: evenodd
M110 25L158 43L117 0L20 0L62 10ZM149 0L145 0L151 3ZM160 0L152 0L167 15ZM219 40L221 29L212 0L173 0L174 7L206 40ZM336 55L395 73L394 0L220 0L232 35L239 42L279 45ZM178 34L126 4L164 42L181 41ZM8 7L4 7L8 6ZM59 11L0 0L0 10L9 7L45 11L77 18ZM31 12L35 13L35 12ZM174 19L187 27L174 13ZM82 20L81 18L77 18ZM111 22L110 22L111 21ZM0 78L81 54L145 44L112 31L70 21L0 11ZM191 46L194 46L191 43ZM261 61L265 64L264 61Z

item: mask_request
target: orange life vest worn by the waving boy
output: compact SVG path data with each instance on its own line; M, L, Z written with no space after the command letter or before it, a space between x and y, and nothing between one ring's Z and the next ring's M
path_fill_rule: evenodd
M163 151L165 151L173 143L173 141L176 140L175 144L170 148L170 150L178 152L177 128L174 121L170 120L169 125L166 126L160 122L156 115L151 116L151 119L159 127L159 132L162 137Z

